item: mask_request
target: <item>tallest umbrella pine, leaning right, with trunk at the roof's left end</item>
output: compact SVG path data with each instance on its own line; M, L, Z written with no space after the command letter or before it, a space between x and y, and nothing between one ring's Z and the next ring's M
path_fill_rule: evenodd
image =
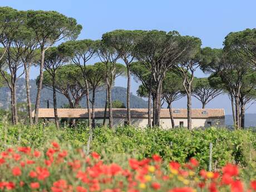
M43 67L45 52L56 42L66 39L75 39L80 34L82 26L76 19L64 16L56 11L28 11L28 26L35 32L35 41L40 45L40 80L38 84L34 123L38 122L38 110L43 82Z

